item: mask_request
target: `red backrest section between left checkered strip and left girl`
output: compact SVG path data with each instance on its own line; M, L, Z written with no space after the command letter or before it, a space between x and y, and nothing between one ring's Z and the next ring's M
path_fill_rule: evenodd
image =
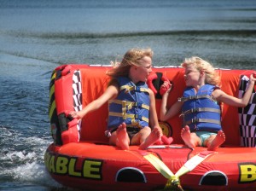
M102 96L108 87L109 78L105 74L109 67L90 67L81 69L83 80L83 106ZM108 102L98 110L88 113L82 121L81 141L106 142L104 131L108 124Z

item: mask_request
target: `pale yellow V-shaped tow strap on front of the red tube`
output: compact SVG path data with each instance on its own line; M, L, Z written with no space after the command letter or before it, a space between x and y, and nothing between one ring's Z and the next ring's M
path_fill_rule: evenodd
M195 167L208 156L214 154L216 152L213 151L203 151L201 153L196 154L194 157L189 159L174 175L172 171L166 166L166 164L156 157L152 153L148 153L143 157L148 160L154 168L161 173L162 176L166 177L168 181L166 182L165 190L180 190L183 191L183 188L180 184L179 177L183 176L184 174L188 173L189 171L193 171Z

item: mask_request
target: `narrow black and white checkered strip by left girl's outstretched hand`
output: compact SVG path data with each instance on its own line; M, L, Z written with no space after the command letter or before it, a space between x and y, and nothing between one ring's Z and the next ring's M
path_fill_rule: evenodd
M76 70L73 72L73 109L76 112L82 110L82 83L81 83L81 72ZM77 125L78 130L81 130L81 120Z

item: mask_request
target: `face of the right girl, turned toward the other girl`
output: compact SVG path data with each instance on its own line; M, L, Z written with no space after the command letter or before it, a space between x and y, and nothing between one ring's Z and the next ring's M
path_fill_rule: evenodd
M184 73L186 86L196 87L200 83L201 73L192 65L185 67Z

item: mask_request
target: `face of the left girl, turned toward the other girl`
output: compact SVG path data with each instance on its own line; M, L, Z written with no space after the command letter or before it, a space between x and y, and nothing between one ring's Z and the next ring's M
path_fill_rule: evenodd
M137 67L138 81L146 82L150 72L152 72L152 60L148 56L144 56L140 61L140 67Z

